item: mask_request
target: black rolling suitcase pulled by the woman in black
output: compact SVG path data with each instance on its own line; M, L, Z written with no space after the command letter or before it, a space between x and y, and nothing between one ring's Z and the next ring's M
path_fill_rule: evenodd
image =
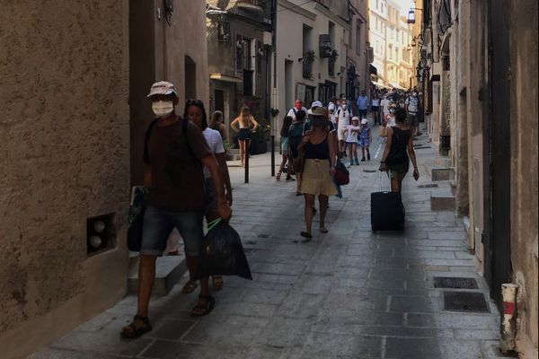
M382 191L381 172L378 172L380 191L371 193L371 228L376 231L402 231L404 206L398 192ZM390 182L391 183L391 182Z

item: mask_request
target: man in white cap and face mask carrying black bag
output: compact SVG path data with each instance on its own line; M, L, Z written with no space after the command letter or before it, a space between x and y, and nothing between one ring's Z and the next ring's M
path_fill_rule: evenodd
M144 185L151 188L144 215L144 229L138 265L137 315L122 328L121 336L140 337L152 330L148 306L155 282L155 260L163 255L166 241L176 227L184 241L190 274L197 270L204 238L204 175L202 165L211 173L218 197L217 212L228 220L224 183L216 158L200 128L176 114L178 96L174 85L154 83L147 96L157 117L146 130L144 144ZM190 312L202 316L213 310L215 299L209 295L208 278L200 280L199 302Z

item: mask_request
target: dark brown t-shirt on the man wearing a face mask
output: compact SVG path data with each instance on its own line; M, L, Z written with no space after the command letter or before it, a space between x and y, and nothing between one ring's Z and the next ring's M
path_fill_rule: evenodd
M153 122L146 131L144 162L152 169L148 203L165 211L193 211L204 206L204 176L199 160L211 155L211 150L200 128L190 121L185 127L183 121L179 118L165 127Z

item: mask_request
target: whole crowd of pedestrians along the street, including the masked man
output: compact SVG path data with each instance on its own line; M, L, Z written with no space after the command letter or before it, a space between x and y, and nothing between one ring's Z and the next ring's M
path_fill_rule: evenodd
M380 171L388 172L393 191L401 191L410 161L413 176L418 179L413 152L413 137L420 135L418 95L415 89L376 90L370 96L362 91L351 102L355 109L341 94L325 106L321 101L313 101L309 109L298 99L294 108L287 111L280 129L282 160L276 180L280 181L286 172L287 181L296 181L296 195L305 198L305 229L300 232L305 241L313 237L316 198L320 212L318 231L329 232L325 216L330 197L340 195L335 174L345 157L349 167L371 161L373 134L367 119L369 112L373 125L386 129ZM147 128L144 141L144 186L149 188L149 195L140 246L137 315L122 328L121 336L126 338L140 337L152 330L148 307L155 282L155 260L167 248L172 230L175 228L181 234L187 267L193 277L202 250L204 218L211 223L218 218L227 221L232 215L233 188L225 153L229 135L223 113L215 111L208 121L204 103L189 100L183 107L183 116L179 116L179 98L172 83L154 83L148 98L156 117ZM243 166L249 152L247 140L260 125L249 107L243 106L230 127L237 133ZM223 287L221 276L211 279L214 290ZM210 294L209 278L188 280L182 292L191 293L198 286L199 301L190 311L192 316L207 315L216 304Z

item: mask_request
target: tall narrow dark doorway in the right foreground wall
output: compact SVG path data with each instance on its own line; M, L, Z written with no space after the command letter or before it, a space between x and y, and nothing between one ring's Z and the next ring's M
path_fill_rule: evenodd
M511 122L508 103L508 13L503 0L489 1L489 86L488 110L485 112L484 263L490 296L501 310L501 284L511 281L510 211L511 203ZM490 169L490 171L489 171ZM502 311L503 312L503 311Z

